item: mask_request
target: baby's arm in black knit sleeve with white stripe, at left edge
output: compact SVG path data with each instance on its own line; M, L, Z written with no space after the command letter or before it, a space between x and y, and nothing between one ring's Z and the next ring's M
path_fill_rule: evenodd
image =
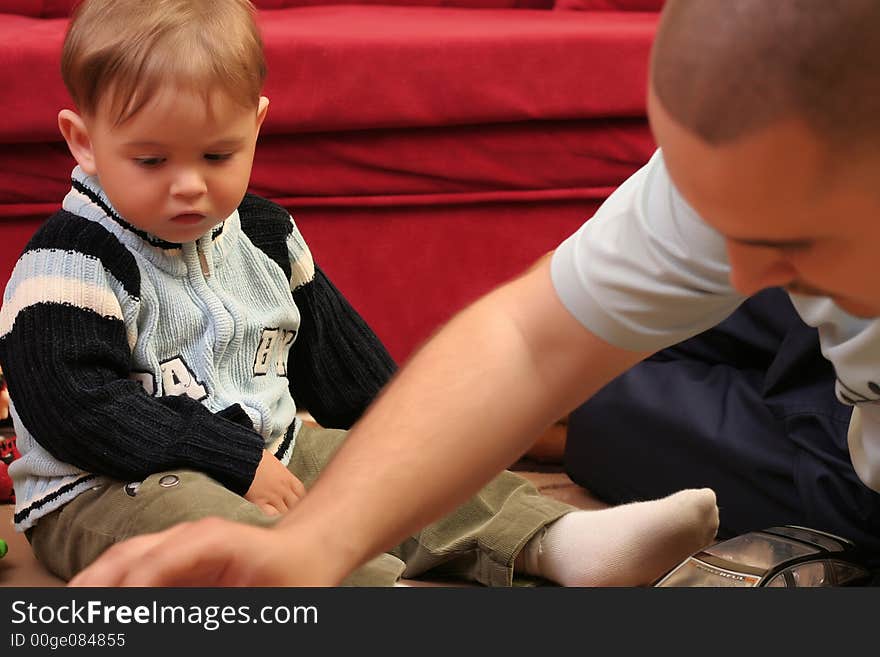
M190 467L244 494L263 455L246 416L152 397L129 379L123 317L140 303L132 256L100 226L78 241L47 226L17 263L0 311L0 364L25 430L87 472L134 481Z

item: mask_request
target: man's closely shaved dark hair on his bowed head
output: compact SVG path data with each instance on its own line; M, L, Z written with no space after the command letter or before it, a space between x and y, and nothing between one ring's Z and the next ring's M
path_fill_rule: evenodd
M651 84L711 144L798 118L828 145L880 141L880 0L668 0Z

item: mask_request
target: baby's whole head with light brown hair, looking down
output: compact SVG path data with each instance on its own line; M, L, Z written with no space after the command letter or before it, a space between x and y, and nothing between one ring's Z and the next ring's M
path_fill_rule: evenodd
M126 220L183 242L239 204L268 106L250 2L85 0L61 70L59 128Z

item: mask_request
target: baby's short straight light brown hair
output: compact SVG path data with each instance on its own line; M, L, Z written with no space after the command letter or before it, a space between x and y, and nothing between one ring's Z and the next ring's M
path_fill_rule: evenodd
M168 85L206 97L219 88L255 107L266 62L248 0L84 0L64 39L61 74L80 112L94 115L109 98L118 125Z

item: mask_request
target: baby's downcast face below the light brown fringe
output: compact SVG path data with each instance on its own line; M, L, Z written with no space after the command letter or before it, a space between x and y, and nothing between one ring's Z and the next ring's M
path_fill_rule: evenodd
M86 119L101 186L136 228L169 242L195 240L244 197L267 105L169 88L116 126L102 104Z

